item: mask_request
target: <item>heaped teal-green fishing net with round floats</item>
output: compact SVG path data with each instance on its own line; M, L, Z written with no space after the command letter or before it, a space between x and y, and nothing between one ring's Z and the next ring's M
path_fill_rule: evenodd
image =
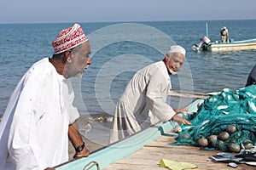
M192 144L239 152L256 144L256 85L236 92L224 88L198 103L198 110L186 118L192 126L182 125L177 145Z

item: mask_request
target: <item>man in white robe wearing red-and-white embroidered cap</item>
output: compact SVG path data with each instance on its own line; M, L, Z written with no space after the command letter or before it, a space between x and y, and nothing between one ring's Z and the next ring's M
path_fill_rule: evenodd
M0 169L53 169L68 161L68 138L74 157L90 152L76 127L70 77L90 65L90 42L79 24L62 30L52 42L52 58L26 72L9 99L0 124Z

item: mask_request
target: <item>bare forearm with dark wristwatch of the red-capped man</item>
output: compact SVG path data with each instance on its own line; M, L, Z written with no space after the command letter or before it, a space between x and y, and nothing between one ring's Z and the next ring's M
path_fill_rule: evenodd
M71 143L73 144L73 147L76 150L76 154L73 156L73 158L83 157L83 156L89 156L90 151L86 149L84 145L84 141L79 133L77 123L74 122L73 124L69 125L68 127L68 138L70 139Z

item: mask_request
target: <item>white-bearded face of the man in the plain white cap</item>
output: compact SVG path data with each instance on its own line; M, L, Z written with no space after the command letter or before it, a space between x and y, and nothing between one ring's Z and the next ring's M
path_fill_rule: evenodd
M166 54L166 67L172 74L176 74L177 71L180 71L185 56L181 53L173 53L172 56L169 56L170 54Z

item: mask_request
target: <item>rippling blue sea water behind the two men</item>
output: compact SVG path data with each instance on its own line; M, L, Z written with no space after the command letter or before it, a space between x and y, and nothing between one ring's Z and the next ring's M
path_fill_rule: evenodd
M256 38L256 20L140 22L137 23L140 24L139 28L151 26L155 30L148 34L149 36L144 36L147 29L131 29L125 25L120 30L104 33L106 37L95 35L101 34L106 26L121 23L80 23L89 38L90 35L96 37L90 39L93 42L92 49L95 48L94 44L103 44L102 48L92 51L93 64L84 76L81 79L73 79L75 92L79 96L75 105L78 106L80 113L111 114L113 105L134 72L163 59L159 48L168 47L169 44L164 41L165 38L158 37L160 33L171 37L187 50L186 66L180 74L172 76L173 89L207 93L223 88L235 90L244 87L247 74L256 63L256 51L195 53L191 47L205 36L206 22L212 41L220 41L219 31L223 26L229 29L230 37L235 41ZM0 25L0 113L4 112L12 91L27 69L39 59L50 57L53 54L51 42L61 29L72 25L73 23ZM104 42L117 38L115 33L125 34L127 40L104 45ZM141 42L131 41L129 38L133 36ZM148 45L148 39L159 46L155 48ZM176 99L170 101L173 107L185 103Z

